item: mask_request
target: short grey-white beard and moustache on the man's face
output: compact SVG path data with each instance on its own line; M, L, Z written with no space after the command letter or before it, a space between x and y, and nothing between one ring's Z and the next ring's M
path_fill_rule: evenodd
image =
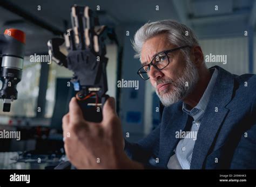
M155 84L155 87L161 83L171 83L172 89L161 90L160 93L156 90L156 93L164 106L170 106L173 103L179 102L189 93L191 93L198 80L199 75L196 66L194 66L189 57L186 57L186 67L184 69L183 76L178 77L176 82L173 82L172 79L158 80ZM186 82L188 84L187 87Z

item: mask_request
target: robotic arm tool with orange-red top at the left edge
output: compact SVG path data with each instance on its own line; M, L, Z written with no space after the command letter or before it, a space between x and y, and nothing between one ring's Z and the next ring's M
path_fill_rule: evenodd
M25 53L25 33L10 28L0 34L1 81L0 98L4 100L3 111L10 112L11 102L17 99L17 84L21 81Z

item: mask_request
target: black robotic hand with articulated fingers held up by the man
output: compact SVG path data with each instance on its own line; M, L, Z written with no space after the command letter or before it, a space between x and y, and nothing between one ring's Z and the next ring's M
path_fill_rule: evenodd
M60 66L73 71L71 82L84 118L102 121L102 107L109 97L107 91L107 58L104 40L106 26L99 26L98 18L88 6L71 8L72 28L63 38L48 41L49 54Z

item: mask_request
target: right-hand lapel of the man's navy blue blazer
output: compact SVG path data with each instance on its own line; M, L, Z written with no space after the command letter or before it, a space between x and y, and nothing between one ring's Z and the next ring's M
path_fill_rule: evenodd
M226 105L232 98L234 78L228 71L218 66L215 68L219 73L197 134L190 169L203 168L208 151L229 111Z

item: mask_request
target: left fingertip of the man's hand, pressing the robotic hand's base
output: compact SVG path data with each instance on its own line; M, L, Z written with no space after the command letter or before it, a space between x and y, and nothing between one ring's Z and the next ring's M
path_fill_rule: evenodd
M72 124L79 124L84 120L83 112L77 103L76 97L73 97L69 103L69 119Z

